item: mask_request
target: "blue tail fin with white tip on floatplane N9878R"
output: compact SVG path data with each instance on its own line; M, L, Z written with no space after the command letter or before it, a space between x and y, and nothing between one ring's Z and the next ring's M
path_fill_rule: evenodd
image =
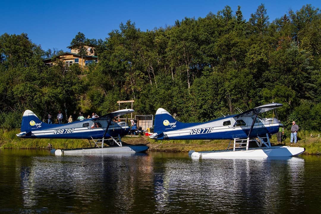
M22 116L21 133L18 137L29 137L32 130L43 129L49 127L49 124L43 123L35 113L30 110L25 110Z

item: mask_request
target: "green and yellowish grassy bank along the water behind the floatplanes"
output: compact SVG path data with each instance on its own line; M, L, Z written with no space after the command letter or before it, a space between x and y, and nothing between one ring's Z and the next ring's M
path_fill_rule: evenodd
M88 140L75 139L22 139L16 136L20 130L0 130L0 148L3 149L46 149L51 143L56 149L74 149L90 147ZM287 137L288 136L288 137ZM122 141L128 144L147 144L150 151L188 152L189 150L206 151L227 149L229 140L176 140L156 141L147 136L123 137ZM284 136L286 145L290 145L290 134ZM277 144L276 135L272 136L271 143ZM93 145L93 144L92 144ZM233 146L231 144L230 148ZM298 143L292 146L304 147L304 154L321 154L321 134L317 132L301 131L298 133Z

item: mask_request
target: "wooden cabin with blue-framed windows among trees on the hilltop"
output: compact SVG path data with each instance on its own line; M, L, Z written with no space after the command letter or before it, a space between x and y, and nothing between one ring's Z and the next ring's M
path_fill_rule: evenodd
M81 68L86 69L89 64L98 63L98 57L95 55L94 47L85 46L87 53L85 56L78 54L78 49L74 45L70 45L67 48L70 49L70 52L65 52L58 55L58 59L62 60L67 67L72 64L79 64ZM43 60L45 65L55 65L53 58L48 58Z

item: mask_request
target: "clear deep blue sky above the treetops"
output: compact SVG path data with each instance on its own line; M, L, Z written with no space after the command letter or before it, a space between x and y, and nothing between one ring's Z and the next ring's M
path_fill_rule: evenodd
M69 51L67 46L80 31L88 39L105 39L112 30L119 29L121 22L135 22L141 31L155 27L174 25L184 17L205 17L209 12L216 14L229 5L233 13L241 6L244 19L248 21L257 7L265 4L269 21L281 18L290 9L297 11L303 5L312 4L321 8L320 0L66 0L66 1L1 1L0 35L27 33L29 39L41 45L43 50L57 48Z

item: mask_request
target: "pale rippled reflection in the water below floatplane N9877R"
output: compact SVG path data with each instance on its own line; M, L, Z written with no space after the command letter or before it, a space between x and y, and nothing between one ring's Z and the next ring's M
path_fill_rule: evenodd
M271 207L271 200L276 198L277 205L282 185L288 183L279 178L302 173L304 159L172 160L163 169L162 176L155 180L160 213L173 208L184 212L186 207L204 213L241 213L244 210L239 208L244 204L245 212L275 212L279 208Z

